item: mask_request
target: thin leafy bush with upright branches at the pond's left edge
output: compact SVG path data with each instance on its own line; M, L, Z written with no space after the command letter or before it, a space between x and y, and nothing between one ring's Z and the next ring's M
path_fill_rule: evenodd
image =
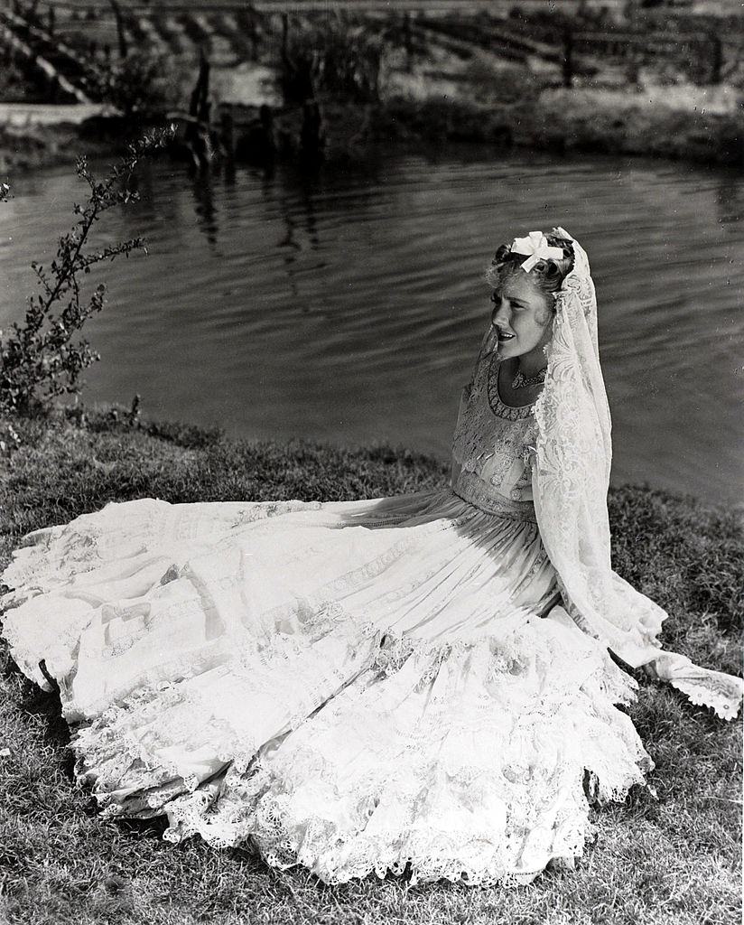
M48 408L55 396L79 394L80 372L99 360L100 355L91 350L87 340L75 343L73 338L91 314L104 307L106 291L105 283L99 283L86 301L79 277L104 260L114 260L121 254L128 257L138 250L146 253L141 238L86 251L91 228L104 212L138 198L127 185L135 167L169 137L167 131L153 132L130 144L128 154L112 167L103 182L92 176L85 157L78 159L76 173L89 186L88 203L74 206L79 219L60 236L51 265L31 263L42 291L29 297L23 324L13 323L6 336L0 331L0 412L38 412ZM7 192L4 186L0 198L6 198Z

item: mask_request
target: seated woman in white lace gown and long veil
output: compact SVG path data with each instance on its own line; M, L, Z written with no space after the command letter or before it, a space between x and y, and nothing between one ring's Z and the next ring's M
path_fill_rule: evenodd
M736 714L741 680L660 648L665 611L611 569L586 254L533 231L487 276L450 487L140 499L24 537L3 632L106 815L328 883L529 882L652 767L608 649Z

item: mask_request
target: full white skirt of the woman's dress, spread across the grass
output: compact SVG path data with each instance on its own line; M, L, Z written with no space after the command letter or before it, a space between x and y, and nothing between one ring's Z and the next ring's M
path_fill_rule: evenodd
M104 814L165 815L171 841L250 841L328 883L529 882L653 767L616 709L636 683L562 608L536 615L536 525L452 491L142 499L24 541L14 658L90 721L71 746Z

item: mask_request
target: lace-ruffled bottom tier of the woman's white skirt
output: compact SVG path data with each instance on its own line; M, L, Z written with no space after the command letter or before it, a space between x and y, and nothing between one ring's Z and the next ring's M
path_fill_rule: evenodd
M196 747L192 732L188 748L173 746L171 704L152 694L164 747L165 735L143 734L140 694L76 735L79 782L93 782L107 816L165 813L169 841L250 842L277 869L302 865L327 883L388 871L529 882L581 857L588 795L621 800L653 767L614 706L636 683L555 611L454 644L368 626L354 679L252 754L225 729L219 742ZM211 683L204 693L221 697ZM189 716L200 716L193 699Z

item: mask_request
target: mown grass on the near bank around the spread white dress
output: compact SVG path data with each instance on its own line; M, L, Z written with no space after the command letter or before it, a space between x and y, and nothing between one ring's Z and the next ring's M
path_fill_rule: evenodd
M0 566L26 531L108 500L350 499L445 484L441 463L400 448L230 441L218 430L142 422L122 410L16 425L0 467ZM0 422L0 437L3 422ZM731 513L646 487L610 497L616 569L670 612L667 645L738 672L744 582ZM383 922L728 925L740 920L738 722L691 706L639 674L630 708L656 762L647 790L592 810L598 828L577 870L518 889L375 878L327 887L270 869L248 849L169 845L165 825L101 820L75 786L58 701L0 655L0 921ZM7 749L2 753L2 749Z

